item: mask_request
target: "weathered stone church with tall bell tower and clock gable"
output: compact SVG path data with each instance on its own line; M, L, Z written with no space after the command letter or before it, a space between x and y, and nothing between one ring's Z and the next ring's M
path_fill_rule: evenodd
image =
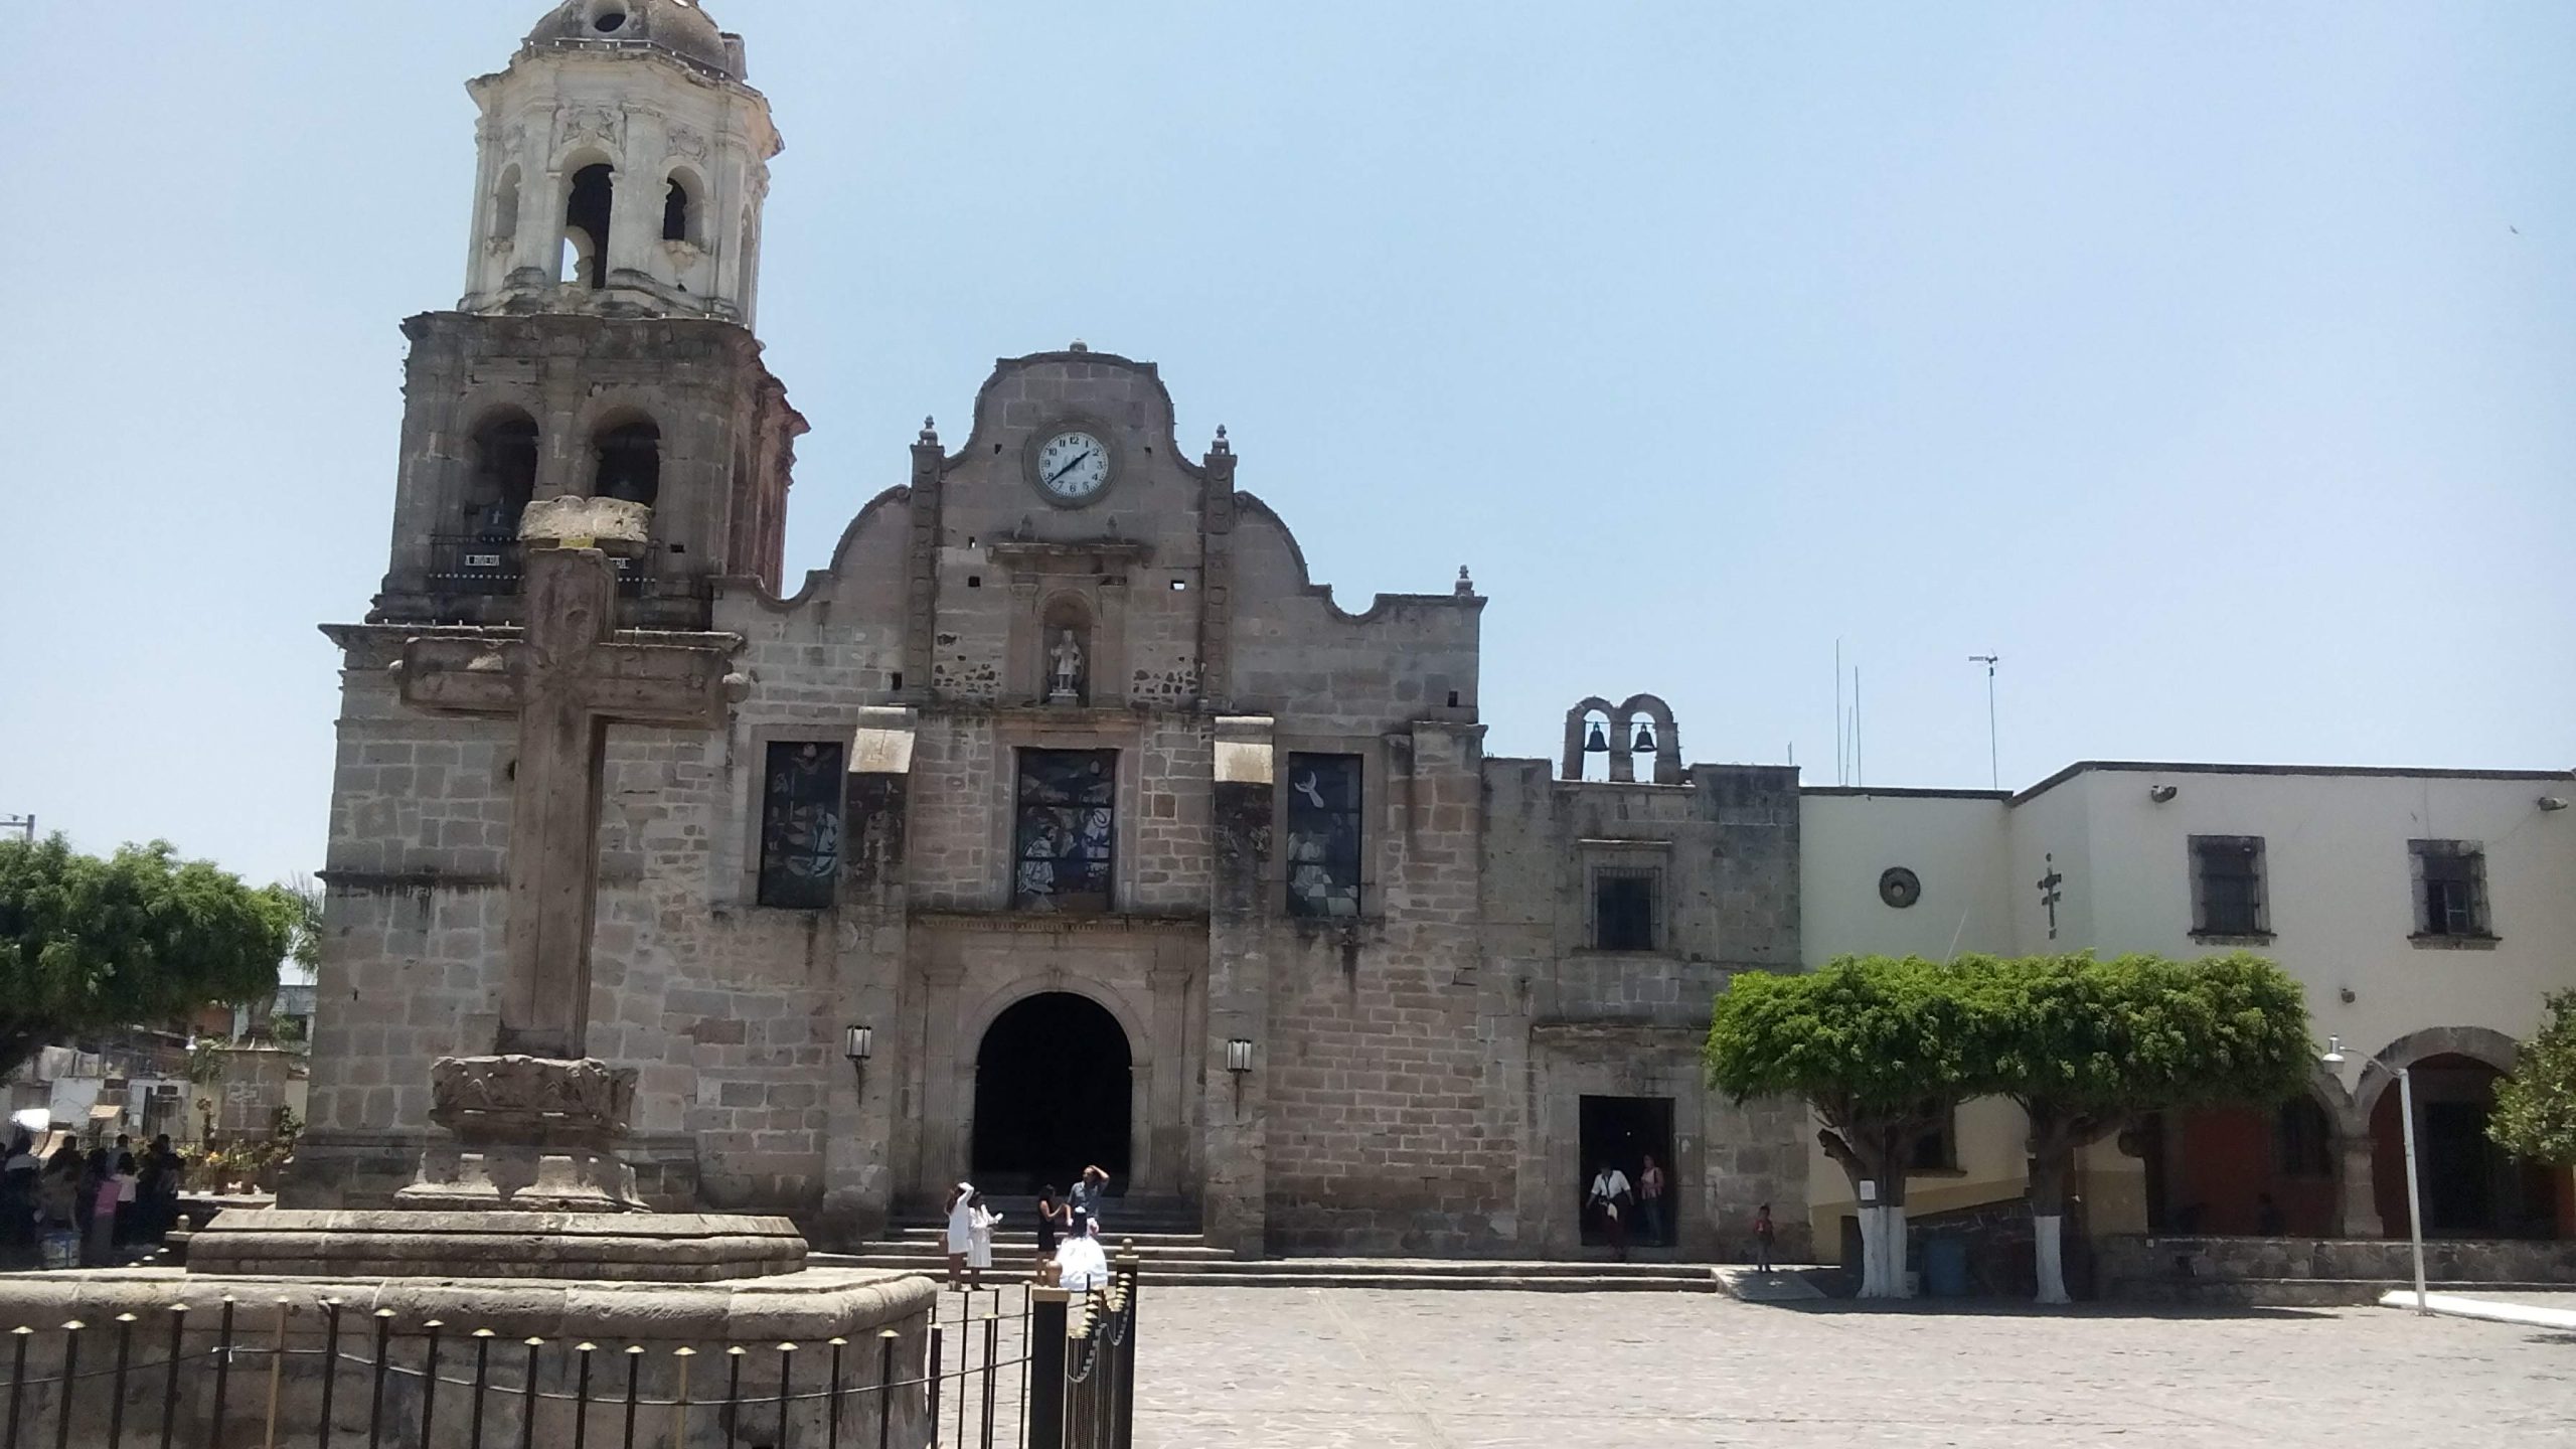
M430 1062L495 1034L513 730L389 665L513 639L518 508L613 495L652 505L621 624L737 676L721 730L605 735L587 1052L634 1073L657 1207L842 1245L1097 1160L1239 1253L1540 1256L1597 1160L1656 1152L1682 1256L1806 1222L1803 1114L1698 1075L1723 982L1801 964L1790 768L1685 763L1651 696L1489 758L1466 570L1347 611L1224 431L1193 456L1154 366L1079 343L925 423L788 590L742 41L569 0L471 93L469 291L404 322L384 590L325 629L291 1207L386 1201Z

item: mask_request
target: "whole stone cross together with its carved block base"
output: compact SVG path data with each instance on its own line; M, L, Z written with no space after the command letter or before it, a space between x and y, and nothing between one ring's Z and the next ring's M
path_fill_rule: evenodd
M639 1207L634 1171L613 1152L634 1083L585 1057L600 758L608 722L714 730L742 686L721 642L616 634L611 552L639 552L647 521L647 508L608 498L531 503L520 637L402 647L404 704L518 717L500 1036L489 1057L430 1070L430 1119L453 1142L397 1194L407 1209Z

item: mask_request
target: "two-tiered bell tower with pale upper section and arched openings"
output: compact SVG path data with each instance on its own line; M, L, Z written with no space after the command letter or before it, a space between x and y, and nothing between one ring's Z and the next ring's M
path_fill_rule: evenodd
M742 36L690 0L564 0L482 111L466 291L402 330L402 472L379 621L518 621L518 513L652 505L626 624L706 624L714 578L778 585L804 418L760 361L778 155Z

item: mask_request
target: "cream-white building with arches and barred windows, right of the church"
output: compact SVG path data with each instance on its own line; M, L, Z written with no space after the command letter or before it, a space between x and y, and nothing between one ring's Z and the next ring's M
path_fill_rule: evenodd
M2576 1235L2568 1173L2486 1137L2494 1080L2576 987L2576 776L2087 761L2020 792L1801 792L1808 964L1958 951L2195 957L2251 949L2308 987L2324 1049L2277 1111L2166 1114L2084 1158L2084 1225L2105 1232L2401 1235L2393 1078L2414 1067L2427 1230ZM2020 1196L2020 1111L1978 1101L1919 1152L1922 1220ZM1819 1248L1850 1186L1811 1160ZM2269 1199L2269 1204L2267 1204Z

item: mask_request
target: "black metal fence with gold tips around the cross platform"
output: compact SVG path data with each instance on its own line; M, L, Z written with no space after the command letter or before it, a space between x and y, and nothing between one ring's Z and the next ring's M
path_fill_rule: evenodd
M1133 1256L1087 1294L940 1297L927 1325L822 1343L549 1341L340 1299L175 1302L157 1320L13 1328L0 1449L1126 1449L1133 1325Z

